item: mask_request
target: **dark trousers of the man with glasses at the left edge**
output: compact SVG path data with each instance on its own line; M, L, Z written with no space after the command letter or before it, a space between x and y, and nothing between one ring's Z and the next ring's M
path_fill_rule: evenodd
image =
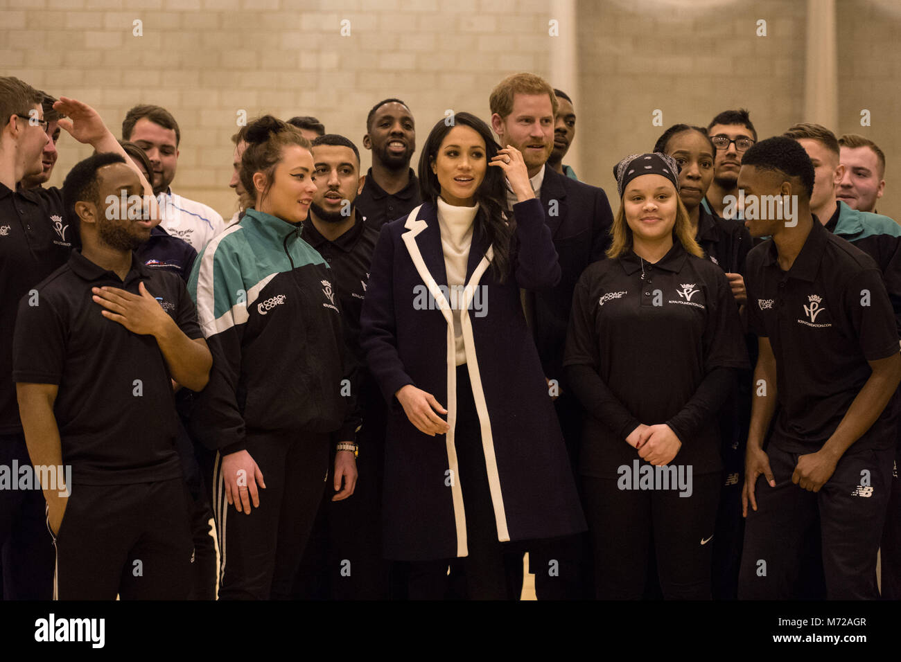
M0 436L0 466L12 471L31 467L21 434ZM17 481L18 476L12 476ZM53 539L47 531L44 495L32 489L0 489L0 567L4 600L50 600L53 597Z

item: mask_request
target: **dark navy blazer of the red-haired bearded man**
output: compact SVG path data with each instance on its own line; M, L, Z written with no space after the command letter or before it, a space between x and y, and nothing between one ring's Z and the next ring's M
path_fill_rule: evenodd
M605 258L614 217L603 188L560 175L547 166L541 194L545 222L560 259L560 282L532 295L535 345L545 376L563 385L563 346L572 296L587 266Z

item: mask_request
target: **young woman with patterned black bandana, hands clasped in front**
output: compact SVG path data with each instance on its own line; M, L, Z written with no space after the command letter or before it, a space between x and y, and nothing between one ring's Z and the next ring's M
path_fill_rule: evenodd
M715 413L747 367L741 322L692 235L675 161L632 155L615 175L609 259L579 279L564 358L586 409L579 473L596 596L641 598L654 540L664 597L710 599Z

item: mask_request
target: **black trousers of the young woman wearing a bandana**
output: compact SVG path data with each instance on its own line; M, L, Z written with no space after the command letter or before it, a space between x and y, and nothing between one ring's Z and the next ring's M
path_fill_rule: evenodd
M676 489L621 490L617 478L583 476L599 600L641 600L651 544L667 600L710 600L710 568L721 474L692 476Z

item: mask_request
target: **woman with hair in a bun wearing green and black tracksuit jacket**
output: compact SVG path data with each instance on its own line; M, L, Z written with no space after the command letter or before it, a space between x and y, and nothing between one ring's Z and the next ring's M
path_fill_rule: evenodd
M310 143L271 115L251 122L246 140L241 183L255 208L210 241L188 282L214 357L191 429L218 451L220 599L287 598L330 440L334 489L343 482L335 498L353 493L358 425L330 269L300 236L316 191Z

